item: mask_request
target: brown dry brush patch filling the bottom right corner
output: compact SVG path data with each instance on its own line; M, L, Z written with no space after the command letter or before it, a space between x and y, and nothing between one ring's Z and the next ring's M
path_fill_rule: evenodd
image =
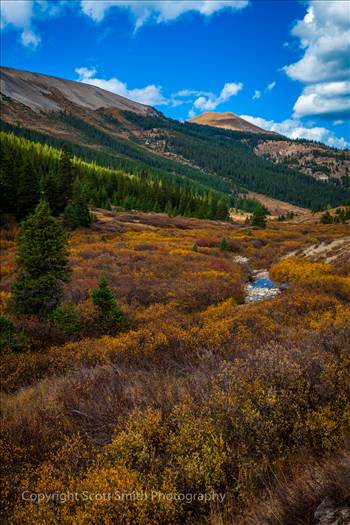
M309 525L322 503L334 509L333 516L327 511L330 519L337 519L349 507L349 468L347 450L324 458L301 454L266 479L263 494L267 497L250 495L238 520L222 519L219 513L213 525ZM227 514L230 516L229 511Z

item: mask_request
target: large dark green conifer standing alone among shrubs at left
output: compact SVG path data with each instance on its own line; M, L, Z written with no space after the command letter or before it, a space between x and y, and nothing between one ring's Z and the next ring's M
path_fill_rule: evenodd
M16 261L19 272L12 286L14 309L46 316L59 304L70 271L66 234L43 200L21 224Z

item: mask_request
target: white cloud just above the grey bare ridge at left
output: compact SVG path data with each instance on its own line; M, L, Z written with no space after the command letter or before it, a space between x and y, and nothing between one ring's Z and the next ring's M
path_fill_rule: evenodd
M154 84L145 86L144 88L129 89L127 85L118 78L110 78L108 80L96 78L96 69L88 69L86 67L76 68L78 73L78 81L84 84L91 84L107 91L111 91L122 97L129 98L141 104L149 106L161 106L169 104L169 101L162 94L162 87Z

